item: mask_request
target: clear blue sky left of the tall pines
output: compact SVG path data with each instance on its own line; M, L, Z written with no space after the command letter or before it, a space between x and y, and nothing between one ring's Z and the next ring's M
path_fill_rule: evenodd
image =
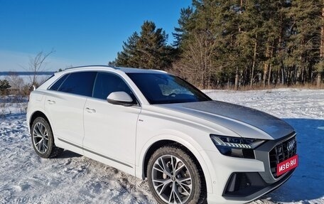
M0 72L28 70L43 51L48 71L107 65L144 21L168 34L191 0L0 0Z

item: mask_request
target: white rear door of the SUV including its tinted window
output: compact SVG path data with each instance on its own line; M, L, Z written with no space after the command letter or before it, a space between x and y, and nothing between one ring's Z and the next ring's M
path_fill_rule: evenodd
M83 154L83 109L87 97L92 95L96 75L96 72L70 73L49 88L45 112L57 146Z

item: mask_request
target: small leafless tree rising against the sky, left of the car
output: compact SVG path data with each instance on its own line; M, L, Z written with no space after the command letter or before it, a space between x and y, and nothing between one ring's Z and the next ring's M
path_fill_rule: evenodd
M45 71L46 68L46 58L52 53L55 53L55 50L50 50L48 53L44 53L43 51L39 52L34 58L29 58L28 67L23 67L24 70L28 70L33 73L33 75L29 76L29 80L32 86L38 85L38 73Z

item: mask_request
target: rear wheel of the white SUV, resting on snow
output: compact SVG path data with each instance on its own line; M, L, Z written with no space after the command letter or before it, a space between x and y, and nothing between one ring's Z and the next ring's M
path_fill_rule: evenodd
M37 117L31 126L31 142L33 149L42 158L53 158L63 152L54 144L53 131L43 117Z

